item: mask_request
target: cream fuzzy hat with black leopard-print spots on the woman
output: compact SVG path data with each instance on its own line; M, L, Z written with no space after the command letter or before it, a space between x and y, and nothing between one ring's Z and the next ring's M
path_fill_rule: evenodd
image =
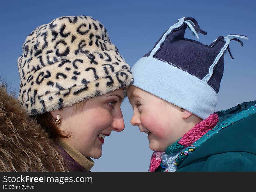
M19 102L38 115L133 83L106 28L89 16L58 17L26 38L18 58Z

